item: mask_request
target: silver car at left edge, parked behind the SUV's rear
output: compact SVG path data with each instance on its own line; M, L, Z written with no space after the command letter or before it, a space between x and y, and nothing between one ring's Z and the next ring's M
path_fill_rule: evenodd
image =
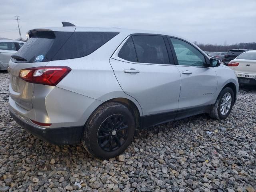
M24 44L22 41L1 39L0 40L0 70L7 70L11 56Z

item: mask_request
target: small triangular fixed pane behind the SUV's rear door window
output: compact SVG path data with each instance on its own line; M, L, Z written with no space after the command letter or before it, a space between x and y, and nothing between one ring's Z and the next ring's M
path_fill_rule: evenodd
M132 42L131 37L128 38L128 40L124 43L124 45L120 49L118 53L118 57L127 61L137 62L137 56L136 56L134 44Z

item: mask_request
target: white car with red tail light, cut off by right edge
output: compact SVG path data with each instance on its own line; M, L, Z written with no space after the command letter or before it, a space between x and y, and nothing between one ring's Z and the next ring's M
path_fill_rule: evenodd
M256 85L256 50L240 54L228 66L236 72L239 84Z

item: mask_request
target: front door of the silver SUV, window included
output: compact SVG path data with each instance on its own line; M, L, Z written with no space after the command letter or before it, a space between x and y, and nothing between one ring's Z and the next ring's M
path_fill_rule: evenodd
M213 67L206 66L202 52L189 42L169 37L169 42L181 75L181 90L177 118L204 112L215 102L217 76ZM190 54L182 54L184 49Z

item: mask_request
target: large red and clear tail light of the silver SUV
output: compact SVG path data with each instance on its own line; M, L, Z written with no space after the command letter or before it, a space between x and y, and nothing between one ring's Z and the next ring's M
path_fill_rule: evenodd
M69 67L45 66L20 70L20 78L26 82L56 86L69 72Z

